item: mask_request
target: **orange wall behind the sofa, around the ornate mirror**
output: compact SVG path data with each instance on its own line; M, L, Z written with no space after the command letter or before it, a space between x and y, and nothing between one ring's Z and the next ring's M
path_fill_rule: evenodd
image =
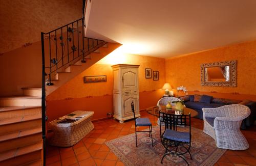
M201 64L230 60L237 60L237 87L201 86ZM166 82L174 88L185 86L189 94L205 92L224 98L256 100L255 64L256 41L190 53L166 59Z

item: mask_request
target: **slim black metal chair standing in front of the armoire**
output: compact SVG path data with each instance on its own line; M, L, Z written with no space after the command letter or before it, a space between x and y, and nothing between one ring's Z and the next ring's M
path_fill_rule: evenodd
M135 110L134 110L134 103L131 103L132 112L134 115L134 121L135 121L135 136L136 136L136 147L137 147L137 132L149 132L149 136L151 136L152 146L153 145L153 137L152 137L152 124L150 122L150 119L148 118L136 118L135 117ZM137 131L137 126L148 126L150 128L149 131Z

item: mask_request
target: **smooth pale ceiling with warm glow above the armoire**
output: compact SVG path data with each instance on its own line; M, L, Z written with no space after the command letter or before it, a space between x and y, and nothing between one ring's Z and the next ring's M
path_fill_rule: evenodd
M173 57L256 39L256 0L94 0L88 37Z

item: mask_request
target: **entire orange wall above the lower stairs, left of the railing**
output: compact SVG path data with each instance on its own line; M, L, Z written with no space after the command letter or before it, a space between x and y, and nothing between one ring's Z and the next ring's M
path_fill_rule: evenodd
M40 33L81 18L82 1L1 1L0 11L0 96L41 87Z

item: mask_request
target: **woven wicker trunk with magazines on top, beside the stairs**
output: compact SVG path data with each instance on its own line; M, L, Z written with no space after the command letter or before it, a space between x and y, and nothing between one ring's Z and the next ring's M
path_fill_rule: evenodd
M91 122L94 112L76 110L71 114L75 115L65 116L66 119L74 117L82 118L72 123L58 123L62 121L60 119L49 123L49 127L54 131L54 135L50 140L50 145L59 147L73 146L94 128L94 125Z

